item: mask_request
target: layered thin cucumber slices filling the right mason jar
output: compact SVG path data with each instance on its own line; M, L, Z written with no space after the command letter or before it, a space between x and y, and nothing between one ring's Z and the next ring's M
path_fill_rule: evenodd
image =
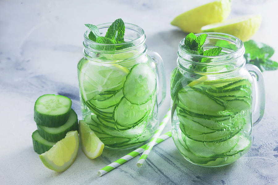
M180 129L173 138L180 152L202 166L234 162L251 145L251 82L241 77L188 82L176 71L172 75Z

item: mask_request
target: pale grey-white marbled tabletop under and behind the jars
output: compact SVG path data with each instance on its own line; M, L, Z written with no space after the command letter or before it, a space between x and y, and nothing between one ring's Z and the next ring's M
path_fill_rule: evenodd
M76 66L82 57L84 23L122 18L141 26L148 48L161 54L167 76L163 117L170 105L169 76L185 34L170 25L183 11L207 1L0 1L0 184L278 184L278 71L263 72L266 109L254 127L251 150L231 165L206 168L183 159L170 138L155 146L143 167L137 158L99 177L97 171L128 151L103 150L91 160L81 148L73 165L58 173L44 167L33 150L33 106L47 93L72 99L80 115ZM277 1L234 0L230 17L261 13L253 39L275 48L278 61ZM166 126L170 130L171 125Z

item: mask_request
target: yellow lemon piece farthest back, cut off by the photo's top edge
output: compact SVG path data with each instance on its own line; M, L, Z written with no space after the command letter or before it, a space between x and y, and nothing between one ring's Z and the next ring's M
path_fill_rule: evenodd
M200 33L201 27L226 19L231 12L230 0L214 1L178 15L171 24L184 32Z

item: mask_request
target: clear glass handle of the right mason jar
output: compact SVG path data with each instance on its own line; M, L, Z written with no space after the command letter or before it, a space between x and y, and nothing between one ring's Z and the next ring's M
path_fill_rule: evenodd
M252 107L252 121L253 125L256 125L261 121L264 114L264 107L265 107L265 89L264 89L264 82L263 82L263 74L259 70L259 68L252 64L246 64L245 68L251 74L253 78L253 95L255 94L255 98L253 96L253 107Z

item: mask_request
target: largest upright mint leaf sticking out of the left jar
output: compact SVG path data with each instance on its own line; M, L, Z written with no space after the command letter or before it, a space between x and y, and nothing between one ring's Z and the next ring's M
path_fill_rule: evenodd
M124 31L124 21L122 19L117 19L108 28L105 37L112 40L124 42Z

